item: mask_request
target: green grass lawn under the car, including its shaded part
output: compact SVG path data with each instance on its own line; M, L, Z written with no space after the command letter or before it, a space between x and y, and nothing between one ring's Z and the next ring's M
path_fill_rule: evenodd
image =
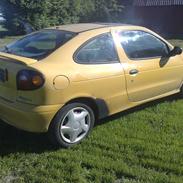
M182 183L183 100L168 97L117 114L69 150L2 124L0 183L6 182Z

